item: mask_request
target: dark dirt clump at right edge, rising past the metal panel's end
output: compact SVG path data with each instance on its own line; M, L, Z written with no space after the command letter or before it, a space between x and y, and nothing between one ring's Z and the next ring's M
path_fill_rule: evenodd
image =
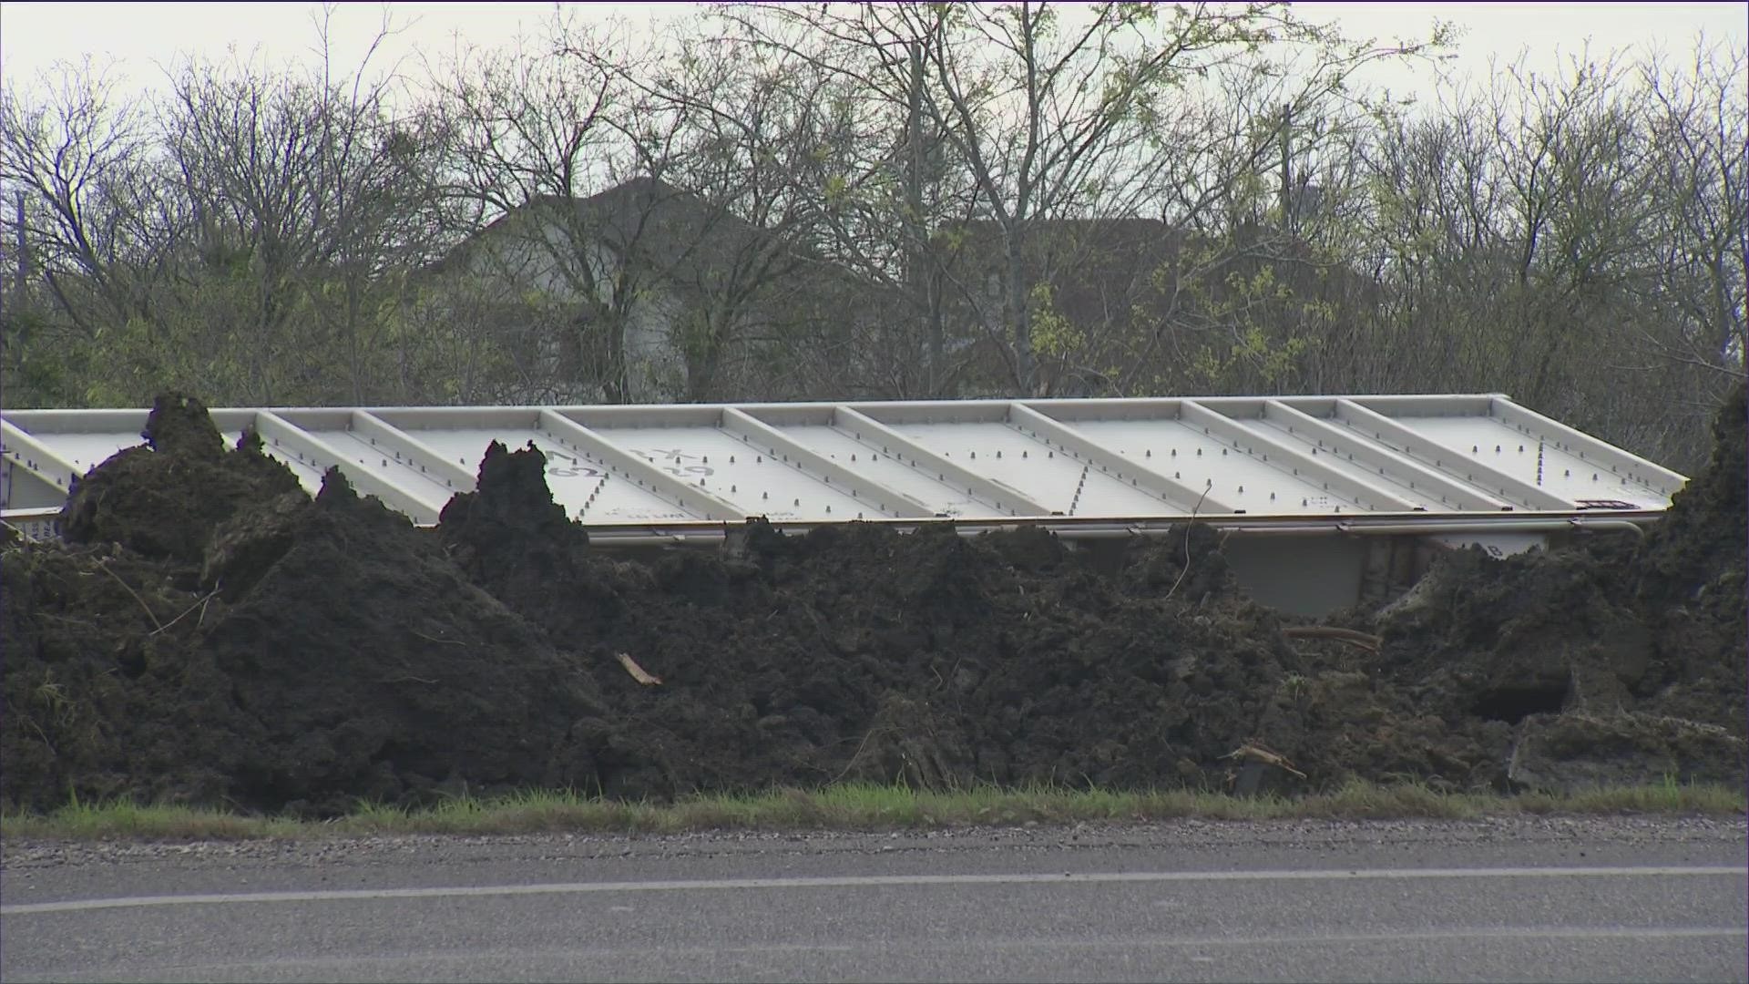
M1383 637L1369 672L1406 681L1446 720L1511 725L1515 784L1740 779L1744 417L1737 392L1716 418L1712 462L1644 541L1597 536L1499 560L1453 552L1403 599L1350 616Z

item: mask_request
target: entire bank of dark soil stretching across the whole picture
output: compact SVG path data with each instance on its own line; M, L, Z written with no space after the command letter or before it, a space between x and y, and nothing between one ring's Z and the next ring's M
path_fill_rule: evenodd
M1642 545L1452 553L1343 618L1378 653L1284 636L1202 527L1111 557L754 522L729 550L614 557L533 448L488 448L418 531L338 473L311 499L259 441L226 450L196 401L161 399L145 436L79 483L70 543L0 552L9 809L1744 769L1740 401Z

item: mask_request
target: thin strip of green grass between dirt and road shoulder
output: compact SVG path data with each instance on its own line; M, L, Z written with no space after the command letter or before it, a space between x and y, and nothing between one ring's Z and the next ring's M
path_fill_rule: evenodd
M1744 816L1742 788L1681 784L1604 786L1565 795L1445 793L1420 784L1350 783L1310 797L1233 797L1212 791L1114 791L1058 786L974 786L951 791L869 783L824 790L721 793L672 804L602 800L575 791L498 798L456 797L401 809L360 802L327 821L243 816L203 807L128 800L72 802L49 814L0 816L0 839L245 840L366 833L679 833L691 830L915 830L932 826L1063 825L1077 821L1383 819L1525 814Z

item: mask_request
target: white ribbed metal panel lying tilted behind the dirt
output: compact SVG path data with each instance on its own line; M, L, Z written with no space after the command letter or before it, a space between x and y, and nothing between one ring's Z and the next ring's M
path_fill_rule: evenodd
M145 410L3 415L3 506L56 506ZM675 406L224 408L315 490L436 522L490 441L589 527L1656 511L1686 481L1497 394Z

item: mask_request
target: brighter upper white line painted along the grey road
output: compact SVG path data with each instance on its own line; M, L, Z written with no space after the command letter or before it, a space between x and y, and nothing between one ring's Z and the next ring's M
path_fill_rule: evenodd
M598 895L640 891L735 891L763 888L925 888L981 884L1111 884L1111 882L1221 882L1221 881L1420 881L1420 879L1560 879L1560 877L1749 877L1740 867L1597 867L1597 868L1350 868L1317 872L1105 872L1006 875L841 875L707 881L603 881L451 888L355 888L331 891L254 891L215 895L138 895L131 898L79 898L0 905L0 916L84 912L93 909L147 909L161 905L233 905L292 902L353 902L371 898L470 898L507 895Z

